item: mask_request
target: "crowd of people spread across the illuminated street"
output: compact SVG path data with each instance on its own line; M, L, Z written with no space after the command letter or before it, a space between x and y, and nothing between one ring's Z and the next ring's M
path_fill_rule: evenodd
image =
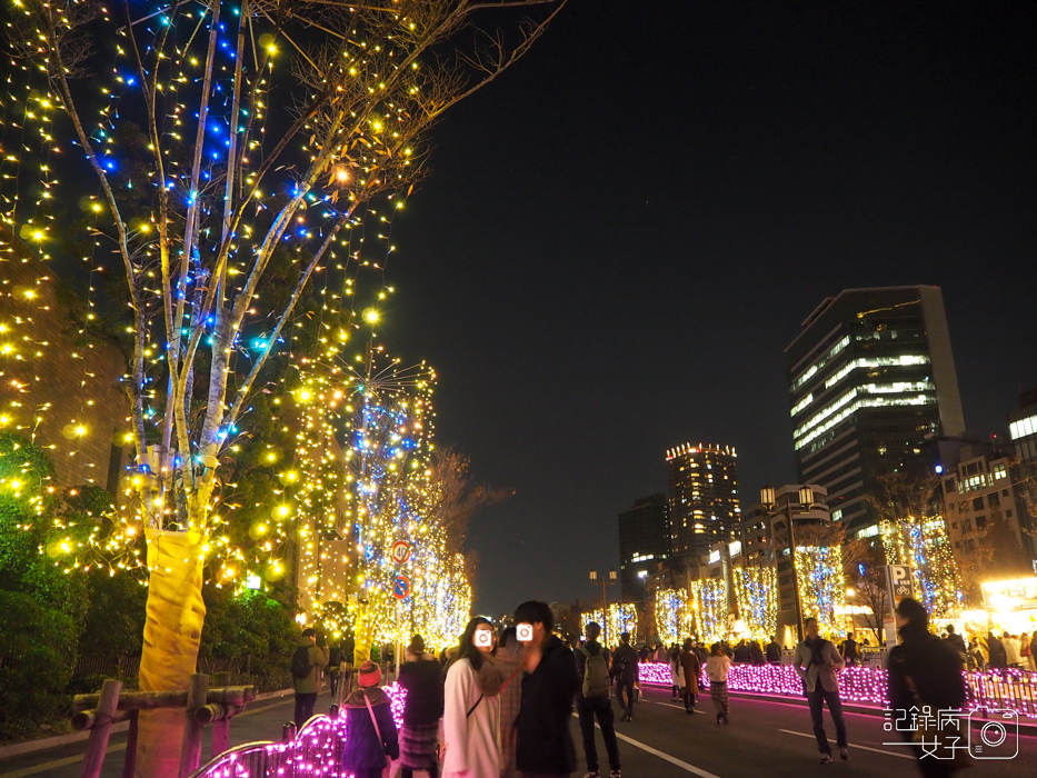
M965 701L961 670L966 667L1034 669L1037 646L1029 636L986 639L965 638L948 625L941 636L929 631L928 614L915 600L897 608L900 645L889 652L887 667L893 715L911 708L934 710L960 708ZM670 670L674 702L682 701L687 714L696 712L698 696L708 688L717 726L730 724L728 674L734 665L779 665L782 649L771 638L765 646L741 640L734 646L720 641L707 648L688 638L669 648L636 648L624 632L618 645L600 642L601 627L591 621L585 639L571 646L552 631L550 607L524 602L515 611L515 626L497 634L481 617L469 621L460 644L439 657L426 651L421 636L406 649L398 682L406 689L402 726L391 716L391 702L380 688L382 671L376 661L365 661L353 671L357 688L343 709L347 739L342 768L356 778L380 778L389 760L400 760L402 778L425 771L431 778L541 778L568 776L577 767L576 748L569 732L575 707L580 726L586 778L621 778L619 745L612 696L620 721L632 721L638 702L639 666L664 662ZM835 726L836 748L849 759L849 741L839 672L861 664L867 641L852 634L837 646L820 636L815 618L804 622L804 640L791 654L791 666L802 679L821 764L832 761L825 730L827 707ZM332 687L342 682L347 667L340 648L316 645L316 634L302 634L292 658L296 675L296 721L312 715L320 690L321 668L328 667ZM608 768L599 762L595 728L601 730ZM906 734L906 738L911 734ZM925 759L915 746L926 776L950 775L956 759ZM951 756L955 756L951 754Z

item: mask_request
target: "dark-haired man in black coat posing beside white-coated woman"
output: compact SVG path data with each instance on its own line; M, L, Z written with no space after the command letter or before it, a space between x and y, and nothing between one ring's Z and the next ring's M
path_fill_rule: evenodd
M517 637L525 646L515 747L515 764L524 778L567 776L576 769L569 714L580 679L572 652L551 632L554 621L550 607L538 600L522 602L515 611Z

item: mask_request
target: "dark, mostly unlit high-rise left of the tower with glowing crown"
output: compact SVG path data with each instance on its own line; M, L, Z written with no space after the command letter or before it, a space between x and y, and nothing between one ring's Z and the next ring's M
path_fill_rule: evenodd
M619 587L624 602L645 599L649 570L670 555L666 495L634 501L619 513Z

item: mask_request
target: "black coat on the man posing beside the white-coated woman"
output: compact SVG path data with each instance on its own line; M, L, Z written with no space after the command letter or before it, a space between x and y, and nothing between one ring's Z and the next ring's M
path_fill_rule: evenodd
M572 651L557 636L551 635L541 650L536 669L522 679L515 764L519 772L567 776L576 770L569 714L580 678Z

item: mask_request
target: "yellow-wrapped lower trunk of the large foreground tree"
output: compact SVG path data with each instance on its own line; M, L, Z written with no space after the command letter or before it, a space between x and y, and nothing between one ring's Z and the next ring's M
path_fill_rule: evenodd
M182 691L198 665L206 618L201 598L203 538L198 532L146 530L147 620L140 658L141 691ZM180 768L183 710L142 710L138 724L137 778L176 776Z

